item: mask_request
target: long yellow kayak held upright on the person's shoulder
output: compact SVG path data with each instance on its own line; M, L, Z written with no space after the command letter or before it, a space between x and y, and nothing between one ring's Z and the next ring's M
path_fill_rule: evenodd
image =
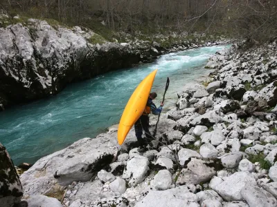
M154 70L150 75L145 77L129 98L118 126L118 144L123 144L129 130L143 114L157 70Z

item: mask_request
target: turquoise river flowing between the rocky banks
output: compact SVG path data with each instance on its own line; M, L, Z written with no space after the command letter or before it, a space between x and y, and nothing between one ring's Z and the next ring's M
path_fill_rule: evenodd
M165 110L175 106L177 91L211 70L206 62L217 50L211 46L161 56L157 61L134 68L116 70L93 79L73 83L48 99L19 105L0 112L0 142L6 146L15 165L34 163L40 157L69 146L84 137L96 137L113 124L130 95L143 78L158 68L152 90L159 105L170 78Z

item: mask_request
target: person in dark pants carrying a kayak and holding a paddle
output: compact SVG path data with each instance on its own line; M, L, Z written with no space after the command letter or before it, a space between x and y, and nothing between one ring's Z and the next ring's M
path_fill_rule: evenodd
M159 115L161 113L161 110L163 109L163 103L161 103L161 106L159 108L156 107L156 105L152 102L154 99L156 99L157 93L151 92L148 101L145 106L145 110L143 111L143 115L139 117L138 121L134 124L134 129L136 132L136 139L138 139L139 146L143 147L145 140L143 140L143 130L145 132L145 137L151 138L152 135L149 131L149 114L152 112L153 115Z

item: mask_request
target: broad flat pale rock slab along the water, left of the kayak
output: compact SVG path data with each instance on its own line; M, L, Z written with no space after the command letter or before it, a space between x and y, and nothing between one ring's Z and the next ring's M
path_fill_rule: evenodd
M89 181L116 156L116 132L101 134L96 139L84 138L71 146L39 159L21 175L26 195L51 191L56 183Z

